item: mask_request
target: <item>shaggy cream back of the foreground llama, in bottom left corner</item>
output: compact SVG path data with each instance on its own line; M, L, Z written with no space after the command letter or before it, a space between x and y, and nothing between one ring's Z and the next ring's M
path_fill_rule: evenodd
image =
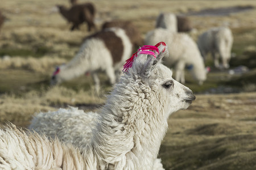
M83 169L84 159L73 146L10 126L0 129L1 169Z

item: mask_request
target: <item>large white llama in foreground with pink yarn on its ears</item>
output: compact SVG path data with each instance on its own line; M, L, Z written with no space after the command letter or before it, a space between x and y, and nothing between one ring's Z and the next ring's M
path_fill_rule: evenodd
M141 50L129 60L134 59L108 96L81 154L58 139L0 129L1 168L152 169L168 117L195 100L161 63L168 54L165 47L159 45L155 53Z

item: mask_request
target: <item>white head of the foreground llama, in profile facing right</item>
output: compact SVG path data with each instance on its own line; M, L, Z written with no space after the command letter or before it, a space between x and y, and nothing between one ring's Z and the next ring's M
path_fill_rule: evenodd
M152 50L151 54L148 51L138 51L132 66L128 69L125 67L125 75L140 82L144 94L151 91L151 105L156 105L156 112L163 111L168 117L179 109L187 109L195 96L188 87L174 80L172 71L161 63L162 58L168 56L168 50L164 43L159 43L156 45L157 50Z

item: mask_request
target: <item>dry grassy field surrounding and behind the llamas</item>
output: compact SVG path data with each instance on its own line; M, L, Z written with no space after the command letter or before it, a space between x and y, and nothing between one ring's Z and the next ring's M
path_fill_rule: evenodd
M210 27L232 29L235 57L230 69L245 65L249 71L230 75L229 70L212 69L203 86L186 74L185 85L197 98L187 110L171 115L159 158L166 169L256 169L256 1L91 2L97 9L98 29L106 20L133 20L144 36L154 29L160 12L187 14L196 29L190 33L194 40ZM49 86L55 66L69 61L82 39L93 33L86 31L86 25L70 32L57 4L70 6L67 0L1 1L0 9L8 18L0 30L1 126L10 121L26 128L34 113L68 105L97 111L112 88L104 74L100 96L90 76ZM192 15L224 7L251 8L229 15ZM209 56L206 65L213 65Z

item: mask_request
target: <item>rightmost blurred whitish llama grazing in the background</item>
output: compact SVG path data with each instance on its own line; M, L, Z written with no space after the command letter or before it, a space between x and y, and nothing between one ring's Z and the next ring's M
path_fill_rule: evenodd
M202 33L197 40L197 45L204 59L208 53L211 53L214 66L219 69L229 68L232 44L233 35L228 27L210 28ZM220 59L222 65L220 65Z

